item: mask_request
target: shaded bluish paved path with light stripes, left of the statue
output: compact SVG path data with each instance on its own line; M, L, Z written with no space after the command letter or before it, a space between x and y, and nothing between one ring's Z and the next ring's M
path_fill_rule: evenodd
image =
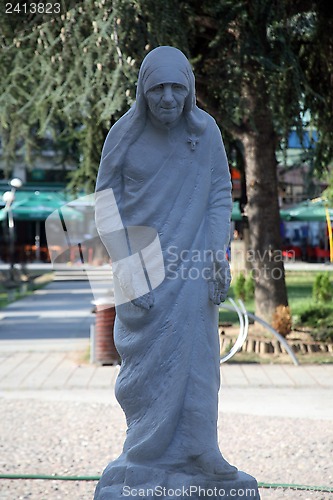
M77 274L77 276L75 276ZM52 340L58 350L63 340L64 350L70 341L87 339L94 320L90 283L78 269L72 279L56 279L33 294L0 309L0 342L2 349L20 350L22 345L34 348L38 343ZM82 279L85 278L85 279ZM110 286L100 274L92 277L96 294L104 294ZM13 341L17 341L13 344ZM8 342L9 341L9 342ZM36 341L36 342L35 342ZM74 342L75 344L75 342Z

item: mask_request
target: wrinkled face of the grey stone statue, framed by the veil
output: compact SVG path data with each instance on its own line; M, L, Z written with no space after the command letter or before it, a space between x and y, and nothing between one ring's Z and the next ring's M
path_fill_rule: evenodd
M163 125L172 125L180 118L188 90L180 83L161 83L146 93L153 117Z

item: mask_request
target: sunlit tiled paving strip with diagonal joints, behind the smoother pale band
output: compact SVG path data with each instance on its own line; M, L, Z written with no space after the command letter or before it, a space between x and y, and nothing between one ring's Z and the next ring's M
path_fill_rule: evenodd
M0 343L0 388L12 389L103 389L110 388L119 367L97 366L83 360L89 342L72 344L79 350L59 351L54 341L44 342L39 349L30 344L22 349L18 342ZM69 342L68 346L71 343ZM76 351L76 352L75 352ZM277 389L327 389L333 390L332 365L258 365L225 363L221 367L224 387L277 388Z

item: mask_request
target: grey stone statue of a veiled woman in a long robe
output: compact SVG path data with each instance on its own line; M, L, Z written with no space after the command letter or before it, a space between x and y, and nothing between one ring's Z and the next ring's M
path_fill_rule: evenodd
M123 498L125 486L236 480L244 473L223 458L217 440L230 174L220 131L196 106L194 75L178 49L158 47L144 59L136 103L105 141L96 191L97 228L110 256L120 233L112 240L105 221L116 213L118 230L156 231L165 276L153 287L146 270L146 293L130 295L135 279L126 266L114 269L128 297L118 301L114 332L122 359L116 397L128 429L95 498Z

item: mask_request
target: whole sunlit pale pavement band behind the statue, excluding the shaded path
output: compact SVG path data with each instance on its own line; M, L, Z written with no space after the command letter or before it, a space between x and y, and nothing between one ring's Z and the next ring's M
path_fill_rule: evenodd
M83 346L88 348L88 341ZM117 404L119 367L82 363L81 350L33 347L0 351L0 398ZM226 363L221 375L223 412L333 421L333 365Z

